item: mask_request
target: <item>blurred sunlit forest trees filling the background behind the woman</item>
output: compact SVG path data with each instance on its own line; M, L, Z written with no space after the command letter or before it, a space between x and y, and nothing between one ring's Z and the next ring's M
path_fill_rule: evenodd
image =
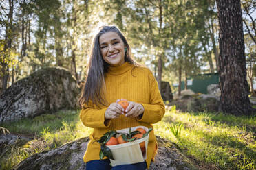
M255 2L242 0L241 6L248 84L254 94ZM158 83L186 84L188 77L218 70L213 0L1 0L0 10L0 94L47 66L65 67L78 84L83 82L92 38L103 25L120 28L134 58L153 71Z

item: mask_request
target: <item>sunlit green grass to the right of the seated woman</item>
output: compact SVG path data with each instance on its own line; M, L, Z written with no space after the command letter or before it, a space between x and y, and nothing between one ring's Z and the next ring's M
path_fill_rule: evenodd
M157 135L177 143L198 162L219 169L256 168L256 117L171 110L153 126Z

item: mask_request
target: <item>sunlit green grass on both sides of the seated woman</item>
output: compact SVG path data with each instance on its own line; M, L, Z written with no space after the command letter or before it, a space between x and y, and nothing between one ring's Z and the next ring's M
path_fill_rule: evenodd
M13 169L32 154L89 136L92 129L83 126L78 114L79 110L64 110L1 124L0 127L10 133L31 138L4 149L0 156L1 169ZM256 117L186 113L173 107L153 126L156 135L176 143L184 154L199 164L200 169L256 168Z

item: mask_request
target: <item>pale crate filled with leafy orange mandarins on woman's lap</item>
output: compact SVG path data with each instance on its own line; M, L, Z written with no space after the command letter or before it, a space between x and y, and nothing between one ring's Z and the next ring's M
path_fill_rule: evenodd
M106 156L112 166L143 162L147 157L151 130L145 126L136 126L106 132L98 140L101 145L100 159Z

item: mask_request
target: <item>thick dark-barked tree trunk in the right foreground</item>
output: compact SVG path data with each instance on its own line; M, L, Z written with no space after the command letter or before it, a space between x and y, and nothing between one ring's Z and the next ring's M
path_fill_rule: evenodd
M217 0L220 25L220 109L235 115L252 114L246 81L244 32L239 0Z

